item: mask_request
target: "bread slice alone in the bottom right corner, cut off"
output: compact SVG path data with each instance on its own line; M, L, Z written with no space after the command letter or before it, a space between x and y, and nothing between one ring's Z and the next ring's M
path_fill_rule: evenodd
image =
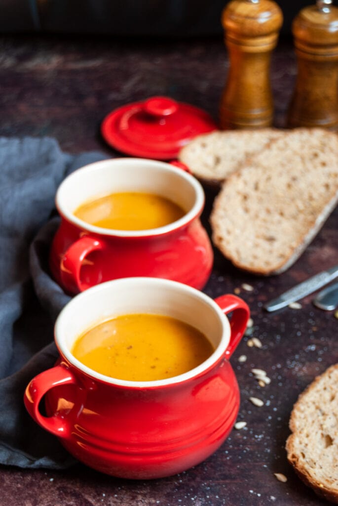
M300 395L289 427L288 461L306 485L338 503L338 364Z

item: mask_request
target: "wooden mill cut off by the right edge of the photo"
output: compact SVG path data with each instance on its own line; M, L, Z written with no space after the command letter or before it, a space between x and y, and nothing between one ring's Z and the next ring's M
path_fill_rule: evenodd
M338 130L338 9L331 0L302 9L293 21L298 63L287 126Z

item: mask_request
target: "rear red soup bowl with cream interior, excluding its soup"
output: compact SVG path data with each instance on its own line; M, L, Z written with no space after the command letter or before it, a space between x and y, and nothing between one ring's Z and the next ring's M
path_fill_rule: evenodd
M180 205L185 215L166 226L138 231L96 227L74 216L81 204L115 192L155 193ZM202 288L213 264L212 246L200 221L204 201L200 183L165 162L117 158L86 165L57 191L61 225L51 247L52 275L71 294L132 276Z

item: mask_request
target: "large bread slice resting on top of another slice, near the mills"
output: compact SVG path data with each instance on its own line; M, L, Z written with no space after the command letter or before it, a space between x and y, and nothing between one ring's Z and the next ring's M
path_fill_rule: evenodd
M214 244L259 275L291 266L338 201L338 136L284 133L222 185L210 217Z

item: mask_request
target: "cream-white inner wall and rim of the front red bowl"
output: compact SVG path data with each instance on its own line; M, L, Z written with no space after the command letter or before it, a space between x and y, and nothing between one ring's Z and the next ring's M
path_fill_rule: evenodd
M203 332L215 347L215 352L196 369L209 366L225 352L228 345L229 322L212 299L195 288L159 278L118 279L102 283L79 294L68 303L58 317L55 326L57 345L70 362L91 375L102 377L72 356L71 349L74 342L82 332L104 320L124 314L140 313L171 316ZM191 371L181 376L187 377L190 373ZM111 380L105 376L104 378ZM170 383L172 379L146 383ZM134 383L116 379L112 382Z

